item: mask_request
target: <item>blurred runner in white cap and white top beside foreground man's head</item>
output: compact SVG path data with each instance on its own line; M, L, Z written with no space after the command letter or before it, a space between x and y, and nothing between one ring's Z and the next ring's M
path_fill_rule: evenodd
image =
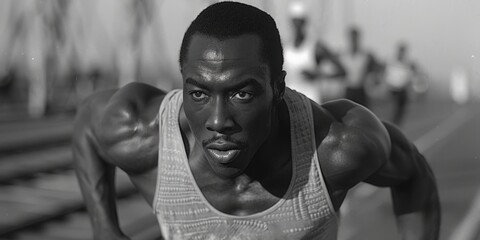
M321 79L342 75L343 69L328 47L308 34L309 13L300 1L289 6L293 39L284 44L286 85L320 103ZM332 71L324 71L324 64L332 64Z

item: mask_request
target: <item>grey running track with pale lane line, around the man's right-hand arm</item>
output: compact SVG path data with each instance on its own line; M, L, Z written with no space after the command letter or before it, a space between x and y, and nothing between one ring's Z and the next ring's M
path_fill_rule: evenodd
M480 239L479 105L413 103L402 126L436 175L442 207L441 240ZM387 109L373 108L380 117L388 116ZM364 184L349 193L349 198L342 209L345 215L339 240L400 239L389 190Z

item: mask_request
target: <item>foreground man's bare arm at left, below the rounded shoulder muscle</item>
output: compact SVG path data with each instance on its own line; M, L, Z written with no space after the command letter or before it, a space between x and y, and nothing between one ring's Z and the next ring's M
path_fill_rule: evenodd
M93 226L94 239L129 239L118 223L115 166L103 159L94 132L93 124L100 118L98 108L113 92L102 94L90 97L79 108L72 139L74 167Z

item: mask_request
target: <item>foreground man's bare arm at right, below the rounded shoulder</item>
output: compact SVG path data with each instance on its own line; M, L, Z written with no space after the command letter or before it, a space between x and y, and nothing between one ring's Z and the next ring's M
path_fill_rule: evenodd
M403 239L438 239L440 201L435 176L424 156L393 125L384 123L391 136L390 161L375 178L400 169L404 181L392 184L391 193L397 224ZM394 166L396 164L397 166ZM378 182L376 179L372 179Z

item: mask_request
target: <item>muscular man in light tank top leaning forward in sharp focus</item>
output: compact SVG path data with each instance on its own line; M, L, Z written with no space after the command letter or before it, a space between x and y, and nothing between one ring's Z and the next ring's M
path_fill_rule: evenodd
M437 239L435 180L416 148L359 105L286 88L282 62L268 14L221 2L185 33L183 90L131 83L86 100L73 150L95 238L128 239L119 167L166 239L336 239L336 212L361 181L392 188L405 239Z

